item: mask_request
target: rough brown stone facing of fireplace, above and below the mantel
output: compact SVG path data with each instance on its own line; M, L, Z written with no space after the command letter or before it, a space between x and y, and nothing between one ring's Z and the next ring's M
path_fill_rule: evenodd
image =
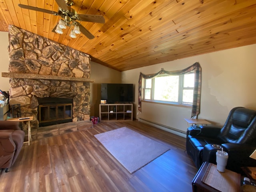
M90 78L89 55L15 26L9 26L9 58L9 72ZM73 121L89 119L88 82L10 78L10 105L34 116L32 129L39 125L37 98L45 97L73 98Z

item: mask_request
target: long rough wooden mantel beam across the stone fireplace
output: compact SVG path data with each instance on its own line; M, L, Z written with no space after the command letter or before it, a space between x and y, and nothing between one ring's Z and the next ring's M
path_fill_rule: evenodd
M43 79L43 80L58 80L58 81L75 81L75 82L95 82L91 78L77 78L77 77L63 77L63 76L53 76L53 75L38 75L38 74L28 74L28 73L9 73L2 72L2 77L17 78L17 79Z

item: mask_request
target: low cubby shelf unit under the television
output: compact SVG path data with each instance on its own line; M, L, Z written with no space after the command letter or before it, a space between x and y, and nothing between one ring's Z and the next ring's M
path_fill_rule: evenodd
M132 104L100 104L100 121L132 121Z

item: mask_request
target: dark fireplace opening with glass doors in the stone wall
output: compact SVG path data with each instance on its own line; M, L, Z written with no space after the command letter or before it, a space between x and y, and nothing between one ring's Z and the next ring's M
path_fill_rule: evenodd
M72 98L38 98L39 127L72 122Z

